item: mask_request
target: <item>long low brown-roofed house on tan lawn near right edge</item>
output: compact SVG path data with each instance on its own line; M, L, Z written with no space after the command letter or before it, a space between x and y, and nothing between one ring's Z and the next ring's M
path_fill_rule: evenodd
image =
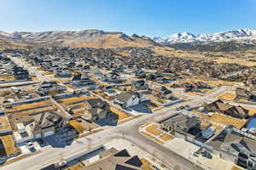
M248 110L242 108L240 105L225 104L221 99L218 99L211 104L205 106L206 111L218 112L236 118L247 118Z

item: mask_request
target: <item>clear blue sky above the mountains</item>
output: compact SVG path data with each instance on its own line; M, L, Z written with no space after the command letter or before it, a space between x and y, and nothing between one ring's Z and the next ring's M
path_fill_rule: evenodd
M0 30L98 29L168 37L256 29L256 0L0 0Z

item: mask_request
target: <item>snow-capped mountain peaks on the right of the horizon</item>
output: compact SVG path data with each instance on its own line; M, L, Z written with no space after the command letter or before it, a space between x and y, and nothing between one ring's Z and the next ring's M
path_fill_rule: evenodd
M172 34L166 39L155 37L154 41L160 44L192 43L192 42L224 42L236 40L238 42L253 43L256 40L256 30L240 29L236 31L223 31L213 34L194 35L189 32Z

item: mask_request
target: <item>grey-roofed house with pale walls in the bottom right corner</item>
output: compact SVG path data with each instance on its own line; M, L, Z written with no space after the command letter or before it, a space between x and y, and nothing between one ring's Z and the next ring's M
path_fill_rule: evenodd
M224 160L249 170L256 169L256 141L243 136L232 126L225 127L207 145Z

